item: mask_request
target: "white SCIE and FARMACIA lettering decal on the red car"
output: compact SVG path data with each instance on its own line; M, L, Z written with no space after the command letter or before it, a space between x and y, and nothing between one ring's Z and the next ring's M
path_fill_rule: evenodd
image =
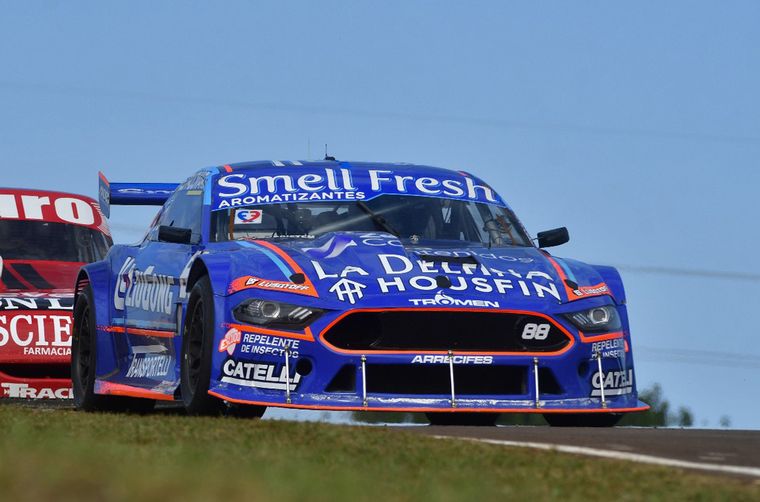
M71 314L19 311L0 314L0 358L71 356Z

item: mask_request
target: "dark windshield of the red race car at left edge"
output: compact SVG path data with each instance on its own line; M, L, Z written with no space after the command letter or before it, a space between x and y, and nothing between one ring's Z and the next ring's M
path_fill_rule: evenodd
M101 260L110 237L89 227L48 221L0 220L0 258L90 263Z

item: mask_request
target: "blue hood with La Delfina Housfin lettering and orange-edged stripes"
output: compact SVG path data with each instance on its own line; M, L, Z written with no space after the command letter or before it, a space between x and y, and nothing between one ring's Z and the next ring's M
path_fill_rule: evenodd
M540 309L609 293L594 267L534 247L402 243L360 232L238 244L241 252L228 255L228 293L267 289L335 308Z

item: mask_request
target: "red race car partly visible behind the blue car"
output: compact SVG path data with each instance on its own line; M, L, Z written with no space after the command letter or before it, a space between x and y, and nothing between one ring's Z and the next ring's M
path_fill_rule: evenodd
M71 398L79 267L113 244L98 203L0 188L0 398Z

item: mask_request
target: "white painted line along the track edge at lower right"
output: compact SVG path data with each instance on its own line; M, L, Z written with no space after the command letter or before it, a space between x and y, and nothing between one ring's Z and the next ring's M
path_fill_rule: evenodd
M653 455L642 455L639 453L625 453L614 450L600 450L598 448L588 448L585 446L570 446L552 443L531 443L523 441L506 441L502 439L478 439L465 438L458 436L434 436L438 439L464 439L466 441L475 441L478 443L497 444L502 446L514 446L517 448L536 448L539 450L559 451L562 453L573 453L576 455L587 455L591 457L610 458L614 460L628 460L631 462L640 462L643 464L664 465L667 467L680 467L683 469L699 469L702 471L723 472L730 474L742 474L745 476L754 476L760 478L760 468L744 467L740 465L722 465L708 464L703 462L689 462L687 460L676 460L673 458L655 457Z

